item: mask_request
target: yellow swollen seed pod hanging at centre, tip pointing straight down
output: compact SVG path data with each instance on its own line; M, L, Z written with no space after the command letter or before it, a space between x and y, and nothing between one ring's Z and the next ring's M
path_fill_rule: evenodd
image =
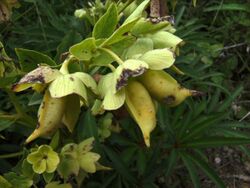
M150 133L156 126L156 110L148 91L138 81L131 80L125 88L125 104L136 123L139 125L144 142L150 146Z

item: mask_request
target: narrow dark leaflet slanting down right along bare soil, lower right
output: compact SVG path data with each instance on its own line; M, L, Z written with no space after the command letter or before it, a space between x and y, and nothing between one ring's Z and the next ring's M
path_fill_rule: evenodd
M182 153L182 155L191 160L193 163L195 163L219 188L226 188L223 181L220 179L220 177L216 174L216 172L202 159L200 159L197 156L190 155L188 153Z

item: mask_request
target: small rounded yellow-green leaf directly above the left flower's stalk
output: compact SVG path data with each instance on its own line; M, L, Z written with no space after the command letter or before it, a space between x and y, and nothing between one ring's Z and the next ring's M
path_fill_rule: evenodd
M87 38L82 42L75 44L69 49L69 52L76 58L83 61L89 61L93 56L93 51L96 49L95 39Z

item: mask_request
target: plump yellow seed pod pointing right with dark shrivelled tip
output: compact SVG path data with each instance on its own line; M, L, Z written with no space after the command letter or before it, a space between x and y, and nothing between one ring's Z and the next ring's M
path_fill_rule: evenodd
M199 91L181 87L172 76L162 70L148 70L139 77L139 80L153 98L168 106L177 106L189 96L202 94Z

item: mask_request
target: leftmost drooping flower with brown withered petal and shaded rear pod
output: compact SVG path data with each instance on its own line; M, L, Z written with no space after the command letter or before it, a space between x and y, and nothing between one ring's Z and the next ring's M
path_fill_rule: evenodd
M41 92L47 88L52 98L65 97L66 106L62 122L70 132L80 114L81 101L88 105L88 92L90 89L98 94L95 80L87 73L69 73L68 64L72 62L71 56L65 60L60 70L52 69L49 66L40 66L26 74L18 83L13 86L16 92L32 87Z

